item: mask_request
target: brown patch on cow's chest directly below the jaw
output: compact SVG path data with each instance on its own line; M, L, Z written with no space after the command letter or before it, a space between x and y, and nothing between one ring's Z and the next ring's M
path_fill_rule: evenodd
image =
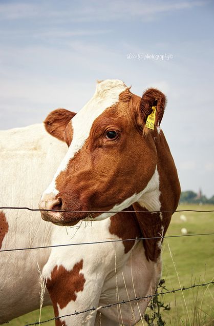
M125 209L124 211L134 211L133 207ZM109 232L117 235L119 238L125 239L137 239L141 237L141 230L136 220L135 213L119 213L111 218L111 224ZM135 244L135 240L123 241L125 254L129 252Z

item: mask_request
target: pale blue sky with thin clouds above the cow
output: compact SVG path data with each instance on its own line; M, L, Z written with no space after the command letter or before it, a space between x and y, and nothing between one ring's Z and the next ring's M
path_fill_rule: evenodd
M213 14L211 0L0 0L0 129L79 111L97 79L122 79L140 96L156 87L181 188L211 197Z

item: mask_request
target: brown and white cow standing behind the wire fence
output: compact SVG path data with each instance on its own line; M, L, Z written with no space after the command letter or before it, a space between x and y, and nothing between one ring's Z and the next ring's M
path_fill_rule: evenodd
M70 315L56 325L143 318L149 298L101 307L150 296L161 277L162 240L180 197L160 128L165 105L157 89L140 97L106 79L78 113L57 109L44 125L1 132L1 207L35 208L40 200L42 219L3 209L0 247L57 246L1 253L1 323L39 308L37 264L44 306Z

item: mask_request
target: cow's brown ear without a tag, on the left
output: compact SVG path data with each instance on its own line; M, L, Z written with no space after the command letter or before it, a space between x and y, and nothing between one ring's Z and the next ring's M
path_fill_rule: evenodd
M64 132L66 127L76 113L66 109L56 109L49 113L44 121L47 132L59 140L65 141Z

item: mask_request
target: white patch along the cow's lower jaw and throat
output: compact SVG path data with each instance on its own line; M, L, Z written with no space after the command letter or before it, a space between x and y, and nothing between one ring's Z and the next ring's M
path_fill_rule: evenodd
M136 201L140 204L141 207L145 207L148 211L159 211L161 208L159 197L159 173L156 167L151 180L141 192L125 199L120 204L115 205L111 210L109 210L108 213L102 213L99 216L95 217L94 220L102 220L107 217L113 216L116 213L112 212L122 211Z

